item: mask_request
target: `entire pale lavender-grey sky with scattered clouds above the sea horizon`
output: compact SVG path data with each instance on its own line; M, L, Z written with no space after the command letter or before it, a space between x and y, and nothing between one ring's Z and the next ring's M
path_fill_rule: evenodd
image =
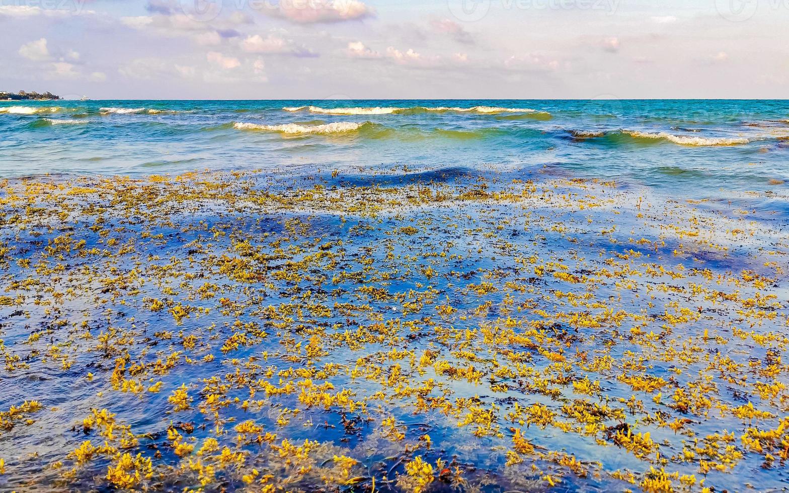
M0 0L0 90L789 98L789 0Z

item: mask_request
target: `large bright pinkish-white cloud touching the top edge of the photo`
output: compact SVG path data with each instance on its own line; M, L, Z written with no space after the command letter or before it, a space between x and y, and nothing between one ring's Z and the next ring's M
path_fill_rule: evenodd
M267 10L272 16L299 24L352 21L375 15L359 0L280 0Z

